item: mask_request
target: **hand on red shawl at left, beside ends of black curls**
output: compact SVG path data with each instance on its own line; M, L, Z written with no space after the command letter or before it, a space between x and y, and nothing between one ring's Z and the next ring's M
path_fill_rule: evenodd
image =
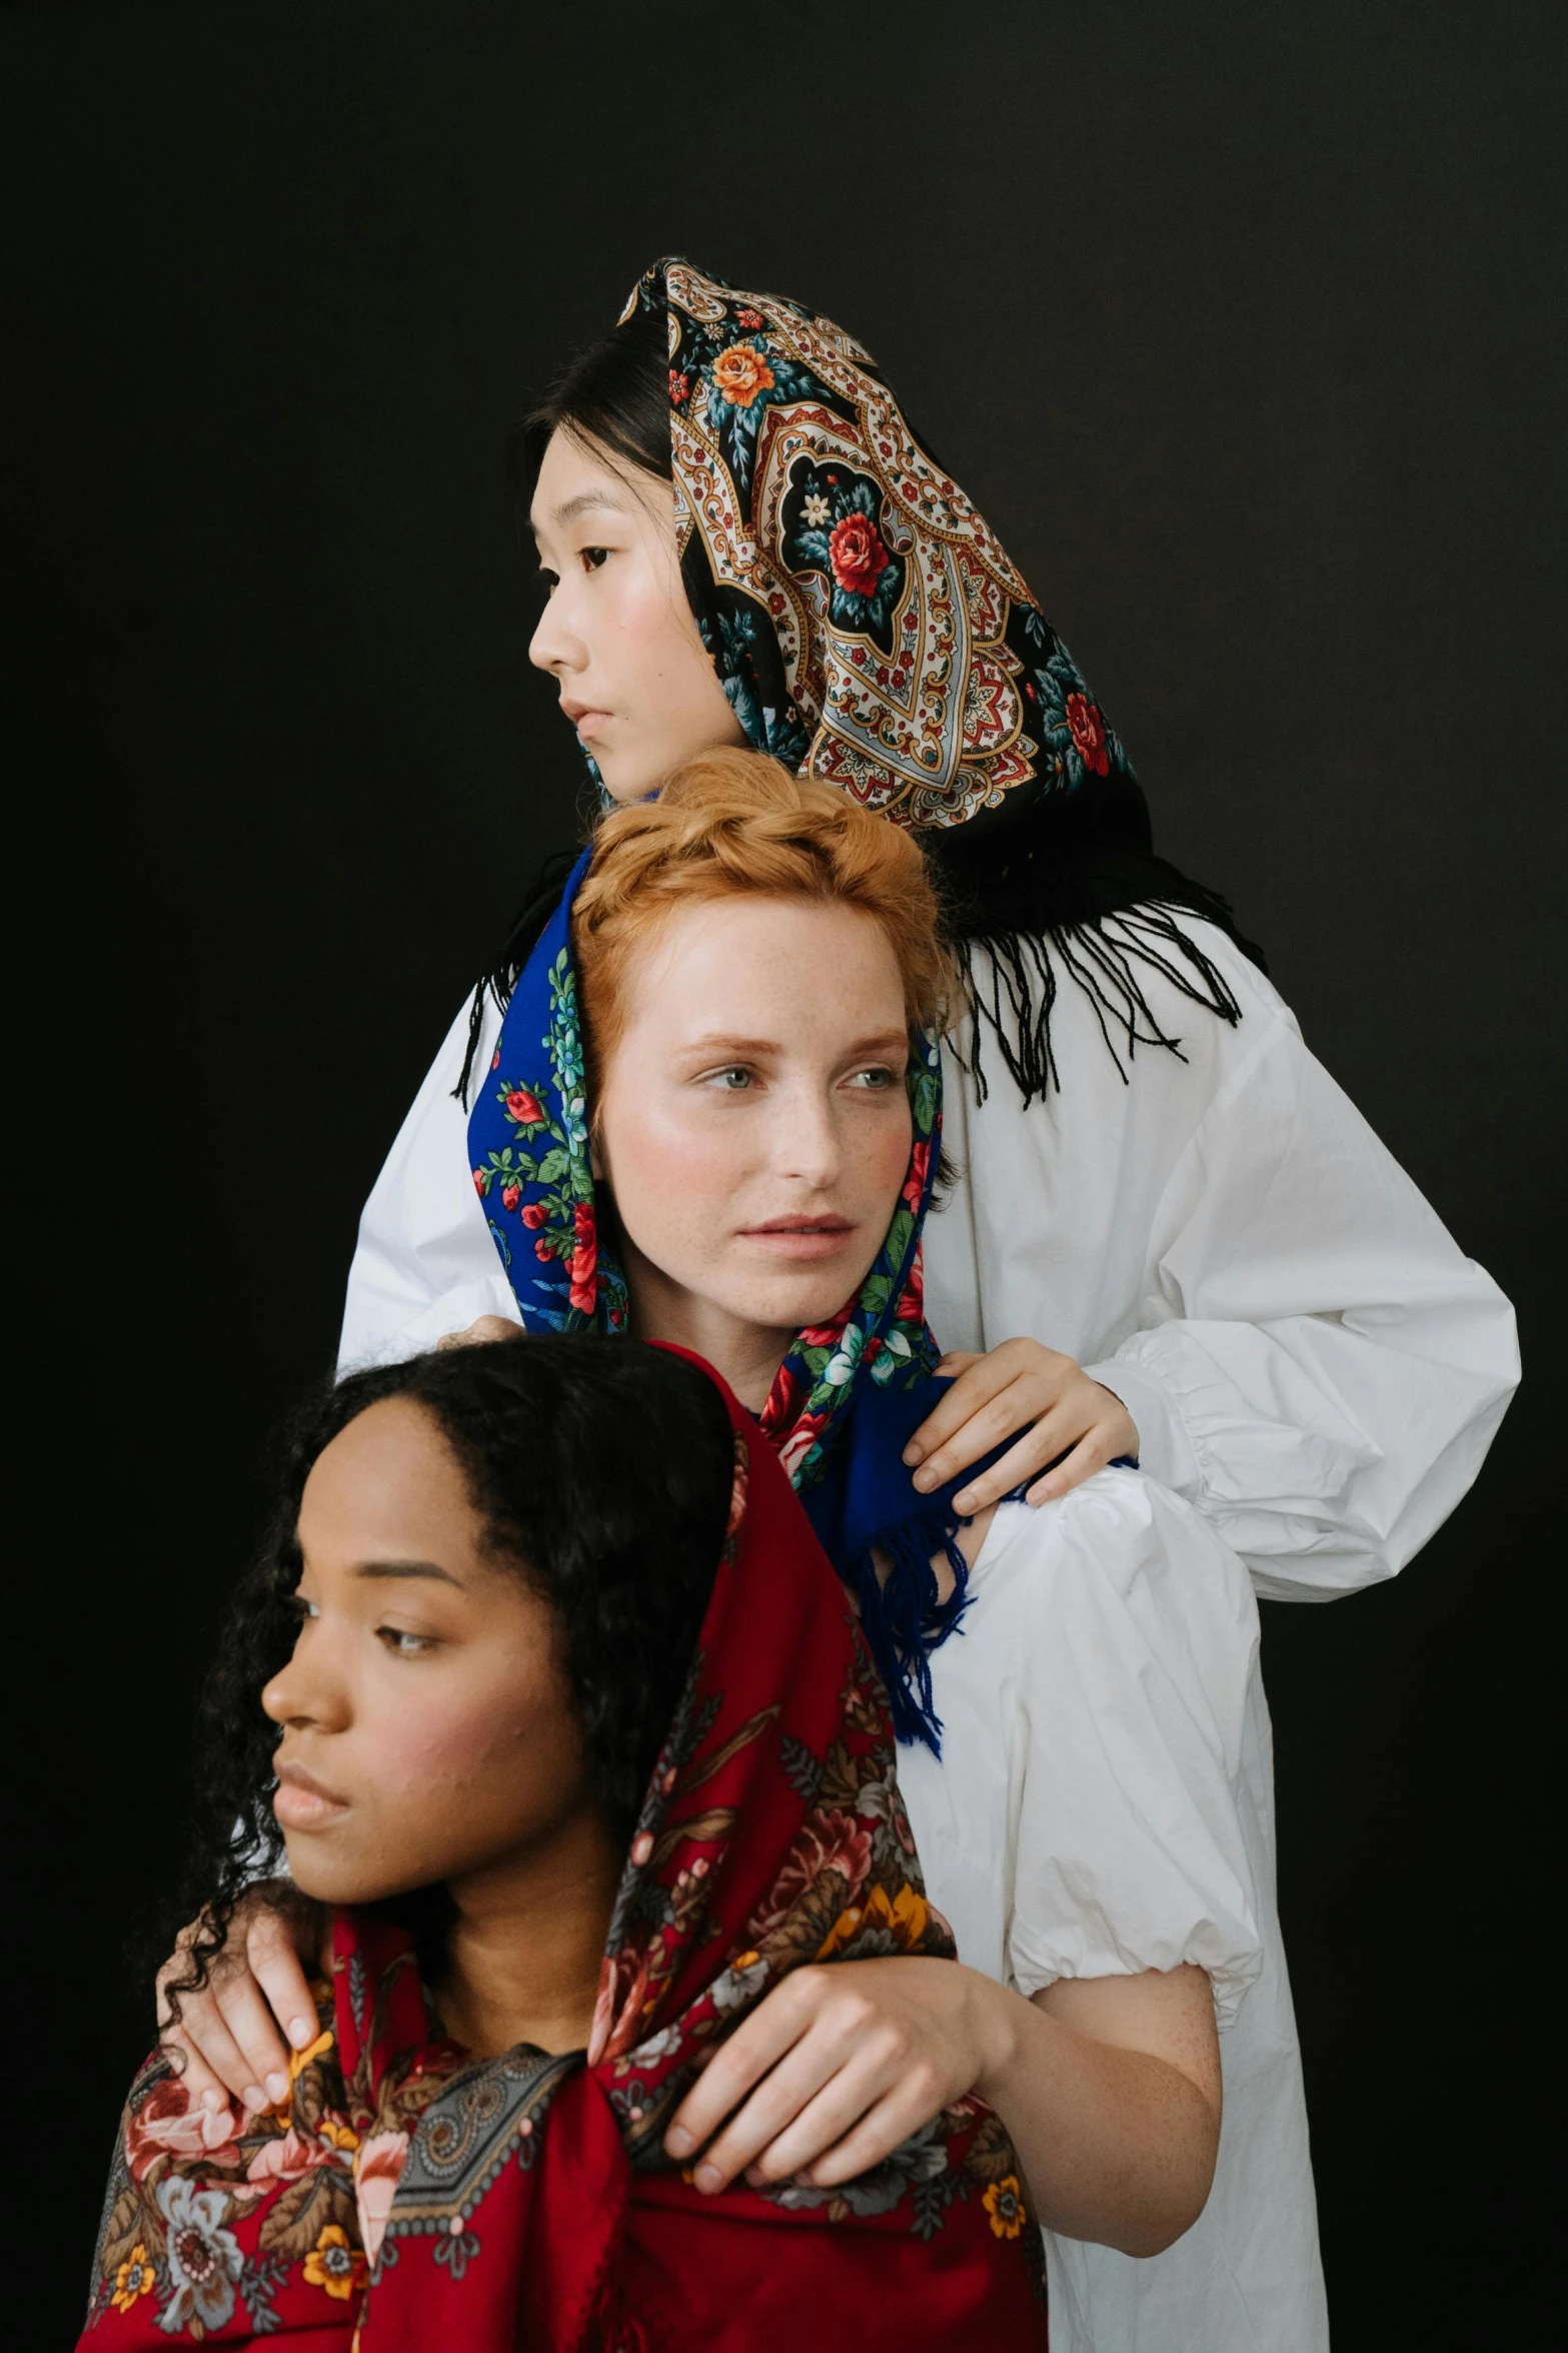
M190 1967L193 1920L158 1972L158 2035L193 2104L266 2108L289 2089L289 2045L315 2040L315 2000L301 1955L320 1962L324 1918L292 1887L268 1882L235 1904L223 1948L207 1962L207 1984L174 1993Z

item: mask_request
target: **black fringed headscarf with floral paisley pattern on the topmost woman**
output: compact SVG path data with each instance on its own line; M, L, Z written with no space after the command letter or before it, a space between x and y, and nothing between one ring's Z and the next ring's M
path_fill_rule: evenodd
M1112 1052L1178 1045L1147 969L1239 1019L1180 925L1239 939L1229 908L1154 856L1121 739L870 353L677 259L637 280L635 318L665 322L682 579L736 718L757 751L919 831L959 946L992 951L978 1009L1025 1099L1056 1078L1058 967Z

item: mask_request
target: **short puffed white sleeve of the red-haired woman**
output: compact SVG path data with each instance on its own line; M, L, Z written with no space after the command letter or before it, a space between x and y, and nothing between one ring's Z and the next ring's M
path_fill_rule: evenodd
M1258 1673L1246 1569L1138 1471L1103 1471L1030 1518L1013 1544L1032 1558L1011 1581L1023 1786L1009 1974L1032 1995L1058 1977L1194 1962L1227 2024L1262 1965L1244 1824Z

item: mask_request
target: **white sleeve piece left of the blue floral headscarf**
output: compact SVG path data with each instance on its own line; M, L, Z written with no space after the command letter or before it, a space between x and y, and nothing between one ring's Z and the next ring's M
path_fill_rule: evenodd
M487 1000L475 1054L480 1075L498 1026ZM468 1111L451 1092L465 1052L468 1005L447 1031L360 1214L339 1372L418 1355L480 1315L517 1322L517 1301L468 1167Z

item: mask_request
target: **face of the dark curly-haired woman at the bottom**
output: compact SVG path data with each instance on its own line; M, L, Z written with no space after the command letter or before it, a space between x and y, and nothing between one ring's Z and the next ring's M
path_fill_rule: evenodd
M294 1882L371 1904L461 1880L588 1809L555 1619L484 1551L437 1424L367 1407L317 1457L299 1513L294 1657L261 1694Z

